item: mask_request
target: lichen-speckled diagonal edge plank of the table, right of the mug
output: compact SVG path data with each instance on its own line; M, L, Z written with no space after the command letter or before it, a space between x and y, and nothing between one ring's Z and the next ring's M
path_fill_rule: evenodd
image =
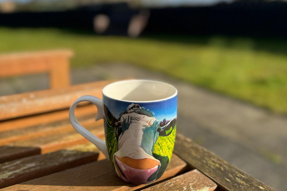
M176 135L174 152L190 167L198 169L224 190L274 191L180 133Z

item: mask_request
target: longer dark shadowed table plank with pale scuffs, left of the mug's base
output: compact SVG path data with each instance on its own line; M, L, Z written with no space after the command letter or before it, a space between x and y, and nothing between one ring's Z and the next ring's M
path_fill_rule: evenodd
M0 188L96 161L98 153L60 150L0 164Z

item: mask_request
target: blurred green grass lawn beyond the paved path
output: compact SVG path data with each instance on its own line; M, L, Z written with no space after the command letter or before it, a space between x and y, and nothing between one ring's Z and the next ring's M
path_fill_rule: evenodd
M287 113L287 41L235 37L132 39L57 29L0 28L0 53L70 48L72 66L131 63Z

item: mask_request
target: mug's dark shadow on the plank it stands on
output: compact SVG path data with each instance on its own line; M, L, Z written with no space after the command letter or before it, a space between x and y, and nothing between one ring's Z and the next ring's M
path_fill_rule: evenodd
M40 185L45 186L60 186L60 187L94 187L96 190L100 187L137 187L138 185L129 184L121 180L110 161L107 159L94 161L78 167L60 171L51 175L40 177L31 181L20 183L23 185ZM98 187L98 188L97 188ZM112 188L111 188L112 189Z

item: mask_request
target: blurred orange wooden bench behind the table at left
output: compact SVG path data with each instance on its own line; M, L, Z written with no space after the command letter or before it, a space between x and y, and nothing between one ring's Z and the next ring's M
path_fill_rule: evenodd
M51 50L0 55L0 77L49 73L51 89L70 85L71 50Z

